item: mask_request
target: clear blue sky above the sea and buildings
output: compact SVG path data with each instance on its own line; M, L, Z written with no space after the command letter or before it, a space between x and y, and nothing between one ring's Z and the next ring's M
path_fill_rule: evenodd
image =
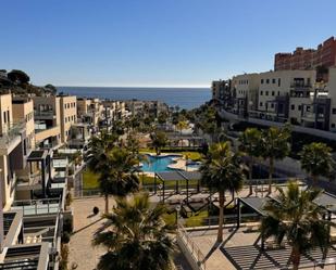
M0 9L0 68L37 85L208 87L336 36L335 0L11 0Z

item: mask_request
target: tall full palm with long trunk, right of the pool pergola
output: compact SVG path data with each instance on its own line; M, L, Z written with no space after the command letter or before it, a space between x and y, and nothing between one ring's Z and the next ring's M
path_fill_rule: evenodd
M223 220L225 192L237 192L242 187L244 173L237 154L231 150L228 142L212 144L201 171L201 184L220 195L220 220L217 242L223 241Z

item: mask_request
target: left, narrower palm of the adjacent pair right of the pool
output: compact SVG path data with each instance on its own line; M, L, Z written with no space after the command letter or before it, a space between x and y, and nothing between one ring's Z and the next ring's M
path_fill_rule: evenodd
M241 137L239 138L240 141L240 150L246 153L250 160L249 160L249 184L250 184L250 194L253 193L252 191L252 172L253 172L253 164L254 158L258 158L261 155L261 132L257 128L248 128L244 131Z

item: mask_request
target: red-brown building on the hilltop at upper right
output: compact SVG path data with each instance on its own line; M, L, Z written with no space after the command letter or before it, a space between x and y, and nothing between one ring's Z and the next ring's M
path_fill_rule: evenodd
M336 40L328 38L318 46L318 49L297 48L293 53L276 53L274 70L314 69L319 66L332 67L336 65Z

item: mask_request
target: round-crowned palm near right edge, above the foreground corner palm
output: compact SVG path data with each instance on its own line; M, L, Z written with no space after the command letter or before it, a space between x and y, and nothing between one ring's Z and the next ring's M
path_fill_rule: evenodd
M322 142L313 142L303 146L300 152L301 168L309 172L313 185L318 184L319 176L327 177L335 166L332 149Z

